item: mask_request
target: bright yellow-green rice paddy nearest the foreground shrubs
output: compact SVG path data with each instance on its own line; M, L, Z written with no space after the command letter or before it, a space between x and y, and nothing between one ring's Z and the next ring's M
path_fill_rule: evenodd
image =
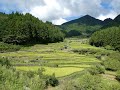
M22 70L22 71L37 71L39 66L17 66L17 70ZM56 77L62 77L66 76L69 74L72 74L74 72L82 71L84 68L76 68L76 67L62 67L62 68L54 68L54 67L43 67L45 69L44 74L46 75L52 75L55 73Z

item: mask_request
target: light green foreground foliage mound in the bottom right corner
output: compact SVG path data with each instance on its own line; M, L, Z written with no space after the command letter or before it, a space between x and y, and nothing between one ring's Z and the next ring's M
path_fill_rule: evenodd
M119 83L108 83L100 75L82 74L76 81L68 81L62 90L119 90Z

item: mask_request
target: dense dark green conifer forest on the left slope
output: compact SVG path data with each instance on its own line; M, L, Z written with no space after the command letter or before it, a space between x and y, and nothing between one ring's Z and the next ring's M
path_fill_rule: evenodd
M63 41L64 34L50 22L43 23L29 13L0 13L0 40L6 43L50 43Z

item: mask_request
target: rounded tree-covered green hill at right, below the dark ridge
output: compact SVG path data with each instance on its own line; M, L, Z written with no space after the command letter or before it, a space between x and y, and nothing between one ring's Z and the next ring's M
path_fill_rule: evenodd
M109 45L120 51L120 27L111 27L95 32L90 38L90 44L97 47Z

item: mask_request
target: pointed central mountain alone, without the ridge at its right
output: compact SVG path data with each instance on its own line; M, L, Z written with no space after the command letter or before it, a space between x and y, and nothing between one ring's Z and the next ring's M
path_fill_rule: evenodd
M80 35L89 36L93 32L99 30L102 26L103 26L103 22L101 20L86 15L79 19L75 19L67 23L64 23L60 27L63 30L66 30L68 33L67 36L70 37L70 36L79 36L79 34L69 35L69 32L71 32L72 30L81 33Z

